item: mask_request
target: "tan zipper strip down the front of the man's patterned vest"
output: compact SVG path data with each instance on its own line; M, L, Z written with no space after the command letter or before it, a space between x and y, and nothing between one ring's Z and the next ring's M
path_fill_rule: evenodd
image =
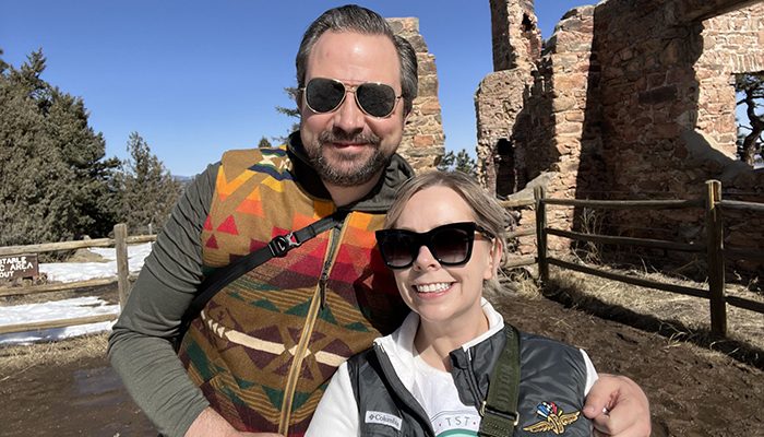
M305 359L306 351L308 350L308 344L310 343L310 338L313 334L315 320L318 319L319 312L321 312L323 309L326 300L326 282L329 282L329 273L332 270L332 265L334 264L334 260L336 258L335 251L337 250L337 247L339 247L338 243L343 237L345 221L347 221L347 217L345 217L343 221L343 226L338 232L336 229L329 231L329 248L326 250L325 261L321 270L321 276L319 277L319 286L315 288L313 297L311 298L310 308L308 309L308 315L306 316L306 323L302 327L302 332L300 333L300 341L295 347L295 356L291 362L291 367L289 368L289 374L287 375L287 381L284 388L284 401L282 401L282 412L278 421L278 434L283 436L289 435L291 404L295 401L297 381L299 380L299 375L302 369L302 361Z

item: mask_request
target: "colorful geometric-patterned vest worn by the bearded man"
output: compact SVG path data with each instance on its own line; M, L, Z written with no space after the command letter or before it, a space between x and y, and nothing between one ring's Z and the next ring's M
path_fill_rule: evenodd
M223 156L202 232L205 268L334 212L293 179L285 149ZM220 291L179 355L211 405L240 430L302 436L334 370L397 328L407 309L375 247L384 216L354 211L332 229Z

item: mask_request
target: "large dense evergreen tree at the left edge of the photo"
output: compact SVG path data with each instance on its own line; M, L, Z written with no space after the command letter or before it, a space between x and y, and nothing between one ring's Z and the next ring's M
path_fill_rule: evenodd
M82 99L41 79L45 66L41 50L19 69L0 61L2 246L106 236L115 223L118 162L104 160Z

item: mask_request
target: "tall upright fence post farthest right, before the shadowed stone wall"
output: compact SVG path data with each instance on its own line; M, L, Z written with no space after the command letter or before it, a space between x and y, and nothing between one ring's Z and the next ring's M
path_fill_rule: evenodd
M721 200L721 182L706 180L706 233L708 237L708 294L711 302L711 332L727 335L727 308L725 297L724 224L716 202Z

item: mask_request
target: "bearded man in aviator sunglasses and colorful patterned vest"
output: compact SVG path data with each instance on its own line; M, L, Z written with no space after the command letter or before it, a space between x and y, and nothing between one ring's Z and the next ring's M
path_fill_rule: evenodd
M299 132L286 149L227 152L196 177L109 339L114 367L165 435L301 436L336 367L405 316L373 232L413 175L395 151L417 93L414 49L347 5L311 24L296 63ZM217 293L176 355L202 277L337 209L341 225ZM587 415L611 434L647 435L644 393L604 379Z

